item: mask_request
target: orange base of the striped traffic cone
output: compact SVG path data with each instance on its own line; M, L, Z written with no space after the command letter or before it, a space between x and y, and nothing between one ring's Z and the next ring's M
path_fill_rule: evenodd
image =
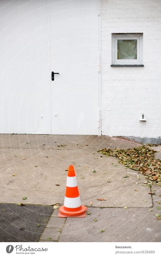
M86 210L87 210L87 207L84 206L84 205L81 205L81 209L79 211L66 211L64 209L64 206L61 206L59 208L59 214L58 214L58 217L60 218L67 218L67 217L75 217L75 218L84 218L86 216Z

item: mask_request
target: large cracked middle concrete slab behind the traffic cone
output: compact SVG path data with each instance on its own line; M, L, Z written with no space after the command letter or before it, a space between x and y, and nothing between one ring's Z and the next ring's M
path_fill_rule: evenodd
M14 151L18 152L17 148ZM152 204L144 201L151 200L148 194L150 189L143 183L144 176L139 175L139 184L134 182L137 174L129 174L129 177L124 178L127 172L134 171L125 169L114 157L101 157L97 151L93 154L87 149L73 151L72 154L71 150L65 149L23 151L31 151L28 157L26 155L26 160L22 160L23 154L18 155L14 157L17 163L10 166L9 171L1 171L1 202L19 203L25 195L25 203L63 203L67 176L65 169L72 164L76 170L83 204L89 205L91 201L97 207L143 207ZM96 173L93 173L94 170ZM16 176L12 176L13 174ZM111 182L107 182L108 180ZM97 198L105 201L98 201Z

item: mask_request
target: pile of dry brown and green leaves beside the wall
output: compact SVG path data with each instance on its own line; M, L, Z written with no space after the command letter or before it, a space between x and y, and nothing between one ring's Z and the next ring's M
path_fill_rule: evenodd
M102 149L99 153L114 156L119 163L146 176L148 184L161 186L161 160L155 159L156 151L143 145L132 149Z

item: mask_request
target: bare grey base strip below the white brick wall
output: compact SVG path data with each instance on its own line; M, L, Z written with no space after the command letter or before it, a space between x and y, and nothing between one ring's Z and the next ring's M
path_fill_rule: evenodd
M119 136L118 136L119 137ZM121 136L120 136L121 137ZM121 137L140 144L161 144L161 137Z

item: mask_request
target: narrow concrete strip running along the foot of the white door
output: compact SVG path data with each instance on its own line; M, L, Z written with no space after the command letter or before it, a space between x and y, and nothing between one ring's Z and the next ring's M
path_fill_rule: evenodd
M66 145L59 147L59 145ZM116 147L127 149L136 147L139 143L130 140L107 137L107 136L89 136L89 135L26 135L26 134L1 134L0 147L2 148L23 148L23 149L101 149Z

